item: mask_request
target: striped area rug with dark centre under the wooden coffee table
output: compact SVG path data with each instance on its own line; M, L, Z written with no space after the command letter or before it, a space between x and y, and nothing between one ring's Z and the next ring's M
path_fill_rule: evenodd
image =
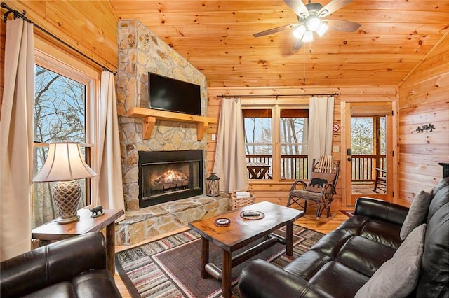
M275 233L285 235L285 227ZM284 267L323 236L298 225L294 226L293 234L292 257L286 256L285 246L276 243L250 260L260 258ZM209 262L220 267L221 258L222 250L210 243ZM250 260L232 269L232 297L240 297L236 284L241 269ZM201 239L192 230L116 253L117 271L132 297L222 297L221 282L212 277L201 278L200 267Z

